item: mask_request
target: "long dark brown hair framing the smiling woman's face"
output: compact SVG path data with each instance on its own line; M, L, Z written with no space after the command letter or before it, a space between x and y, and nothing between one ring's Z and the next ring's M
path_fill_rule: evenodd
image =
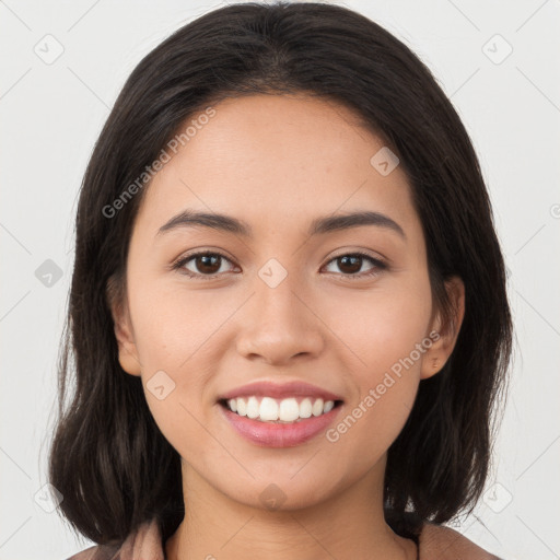
M425 521L471 511L483 489L512 320L489 196L467 131L427 66L368 18L324 3L233 4L180 27L140 61L82 183L49 479L72 528L95 542L122 541L153 516L165 540L185 512L179 455L155 424L140 377L119 364L109 307L126 291L131 230L147 188L112 218L107 208L188 117L225 97L258 93L303 93L353 109L409 178L431 289L448 328L444 281L458 276L465 283L454 351L420 383L388 450L387 523L415 535ZM75 389L65 409L72 361Z

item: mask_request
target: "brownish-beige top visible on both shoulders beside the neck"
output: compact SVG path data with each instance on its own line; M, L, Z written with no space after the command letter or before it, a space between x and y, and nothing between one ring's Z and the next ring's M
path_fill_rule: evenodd
M420 534L420 560L500 560L450 527L425 523ZM166 560L156 520L131 533L122 546L97 545L67 560Z

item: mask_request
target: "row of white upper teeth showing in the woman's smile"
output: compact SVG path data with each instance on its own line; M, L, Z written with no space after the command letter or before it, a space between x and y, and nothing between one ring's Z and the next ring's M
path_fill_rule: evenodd
M305 397L300 404L295 398L284 398L281 400L271 397L262 397L260 402L256 396L237 397L228 400L228 406L233 412L240 416L258 419L264 422L280 420L283 422L293 422L299 418L310 418L328 412L335 406L334 400L323 401L322 398L313 399Z

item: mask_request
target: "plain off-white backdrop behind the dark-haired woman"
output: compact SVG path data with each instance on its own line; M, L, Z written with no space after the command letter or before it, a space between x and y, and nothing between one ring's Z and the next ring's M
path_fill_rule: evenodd
M487 179L516 328L492 474L455 527L504 559L560 558L560 2L348 0L432 69ZM63 560L46 505L78 189L135 66L222 3L0 0L0 560Z

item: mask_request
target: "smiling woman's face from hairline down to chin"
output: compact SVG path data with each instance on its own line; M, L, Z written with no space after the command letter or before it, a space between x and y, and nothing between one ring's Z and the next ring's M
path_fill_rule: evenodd
M254 95L213 108L211 118L192 117L196 133L147 187L126 313L115 312L120 363L141 375L162 433L213 489L261 508L273 483L282 508L318 503L369 471L382 476L420 380L441 369L454 341L438 334L407 177L377 137L345 107L305 96ZM218 220L165 226L187 211L226 214L247 231ZM312 232L353 212L377 219ZM211 255L173 268L202 252ZM271 425L219 402L262 381L304 382L342 404L326 424L312 413ZM305 390L293 389L298 404ZM266 395L257 394L259 411ZM273 400L285 411L285 399ZM320 430L305 440L305 423Z

